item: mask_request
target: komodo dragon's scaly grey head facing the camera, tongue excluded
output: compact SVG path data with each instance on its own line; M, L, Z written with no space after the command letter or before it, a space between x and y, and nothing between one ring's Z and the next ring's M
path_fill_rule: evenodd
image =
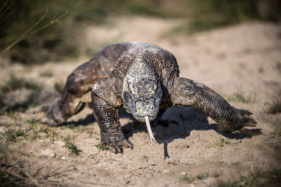
M136 120L145 123L145 116L154 120L162 99L161 81L155 69L135 62L124 78L122 99L124 108Z

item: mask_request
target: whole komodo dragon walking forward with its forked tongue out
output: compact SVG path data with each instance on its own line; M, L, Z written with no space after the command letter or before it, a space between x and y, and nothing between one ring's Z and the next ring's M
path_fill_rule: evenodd
M178 76L178 63L169 51L151 43L116 43L99 50L89 62L68 76L58 102L45 107L48 125L60 125L93 104L93 115L100 127L100 145L115 153L124 146L117 108L124 107L138 121L155 120L159 109L196 105L227 132L255 126L251 112L235 109L221 95L202 83ZM85 99L91 92L91 99ZM147 123L150 139L154 139ZM154 139L155 140L155 139Z

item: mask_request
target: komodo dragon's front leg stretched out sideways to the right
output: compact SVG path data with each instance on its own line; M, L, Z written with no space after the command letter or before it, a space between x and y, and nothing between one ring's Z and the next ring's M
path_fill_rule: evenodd
M214 90L188 78L175 78L171 99L176 105L198 106L228 132L256 124L251 112L230 106Z

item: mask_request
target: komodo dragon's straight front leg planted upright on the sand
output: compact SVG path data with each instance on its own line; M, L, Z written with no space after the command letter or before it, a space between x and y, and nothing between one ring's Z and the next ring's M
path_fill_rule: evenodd
M124 146L133 149L131 141L124 138L117 108L122 106L115 78L105 78L93 86L93 115L100 127L100 146L109 146L114 153L123 153Z

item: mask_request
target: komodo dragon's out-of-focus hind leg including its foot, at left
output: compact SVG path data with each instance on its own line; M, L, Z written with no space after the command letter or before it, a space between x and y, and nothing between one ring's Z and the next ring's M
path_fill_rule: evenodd
M65 123L68 118L84 109L86 103L91 102L91 88L101 78L108 76L96 60L81 64L67 77L60 99L41 109L44 112L41 122L52 126Z

